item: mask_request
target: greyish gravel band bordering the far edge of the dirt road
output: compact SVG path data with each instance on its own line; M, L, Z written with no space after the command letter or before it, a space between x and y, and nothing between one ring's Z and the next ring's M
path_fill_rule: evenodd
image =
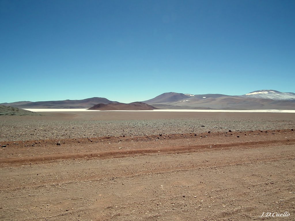
M71 121L18 116L0 118L0 141L43 140L59 138L94 138L99 136L201 133L206 131L268 130L294 128L293 118L210 119L178 118L157 120Z

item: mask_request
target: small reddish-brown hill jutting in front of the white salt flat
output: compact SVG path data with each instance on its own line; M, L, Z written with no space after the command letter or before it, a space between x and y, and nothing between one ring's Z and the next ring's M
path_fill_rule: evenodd
M96 104L93 107L89 108L88 110L156 110L151 105L148 105L143 102L132 102L129 104L125 103L109 103L109 104Z

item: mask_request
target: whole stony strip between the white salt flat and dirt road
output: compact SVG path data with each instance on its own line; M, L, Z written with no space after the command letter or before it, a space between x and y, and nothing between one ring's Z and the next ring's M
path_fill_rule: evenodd
M292 113L83 113L0 116L0 141L295 129Z

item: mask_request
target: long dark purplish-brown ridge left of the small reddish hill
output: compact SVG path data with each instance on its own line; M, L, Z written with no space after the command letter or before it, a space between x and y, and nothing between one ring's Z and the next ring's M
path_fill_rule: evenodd
M90 108L98 103L108 104L114 101L106 98L87 98L83 100L53 100L53 101L37 101L24 104L17 104L14 102L14 107L17 108ZM11 103L4 103L4 105L11 106Z

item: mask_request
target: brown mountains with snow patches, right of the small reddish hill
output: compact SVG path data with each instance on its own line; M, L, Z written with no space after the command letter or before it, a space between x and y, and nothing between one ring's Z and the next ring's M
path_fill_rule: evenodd
M287 109L295 110L295 94L277 90L257 90L245 95L163 93L143 101L165 109Z

